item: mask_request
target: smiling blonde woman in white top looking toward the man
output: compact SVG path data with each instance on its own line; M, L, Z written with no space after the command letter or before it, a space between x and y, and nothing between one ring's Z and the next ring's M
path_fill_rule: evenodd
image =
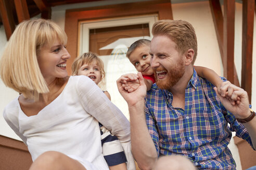
M68 77L66 44L66 33L52 21L17 26L1 58L0 75L21 95L5 107L4 118L28 146L34 161L30 169L109 169L98 121L132 157L129 121L91 79ZM134 163L127 166L133 169Z

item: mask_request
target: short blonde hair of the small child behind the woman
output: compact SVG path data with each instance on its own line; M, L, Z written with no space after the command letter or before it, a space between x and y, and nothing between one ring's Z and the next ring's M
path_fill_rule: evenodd
M100 68L100 74L101 74L101 79L104 79L105 77L105 70L104 70L104 63L103 61L98 57L96 53L93 52L86 52L80 55L78 58L76 58L72 64L72 75L77 76L79 68L86 63L86 64L91 64L93 61L97 62L97 65Z

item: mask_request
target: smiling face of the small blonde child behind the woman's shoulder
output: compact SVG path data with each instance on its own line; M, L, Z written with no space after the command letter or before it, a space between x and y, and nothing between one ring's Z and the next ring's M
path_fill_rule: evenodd
M84 75L91 78L96 84L101 81L101 73L98 63L94 60L92 63L84 63L78 70L78 75Z

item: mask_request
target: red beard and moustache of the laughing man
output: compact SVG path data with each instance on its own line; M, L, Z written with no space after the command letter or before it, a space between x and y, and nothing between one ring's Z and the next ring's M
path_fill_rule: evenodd
M159 72L159 71L167 72L167 77L164 78L163 80L158 79L156 72ZM173 87L178 82L178 80L182 78L184 73L185 73L185 61L182 59L180 59L180 61L178 61L178 63L176 63L173 66L173 68L169 69L169 71L167 71L163 67L154 69L154 75L155 75L157 86L160 89L167 89L167 90Z

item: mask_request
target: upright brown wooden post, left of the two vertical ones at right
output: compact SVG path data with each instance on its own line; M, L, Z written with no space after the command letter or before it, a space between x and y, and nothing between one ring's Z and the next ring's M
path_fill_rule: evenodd
M235 0L224 1L223 21L223 69L227 70L224 77L234 83Z

